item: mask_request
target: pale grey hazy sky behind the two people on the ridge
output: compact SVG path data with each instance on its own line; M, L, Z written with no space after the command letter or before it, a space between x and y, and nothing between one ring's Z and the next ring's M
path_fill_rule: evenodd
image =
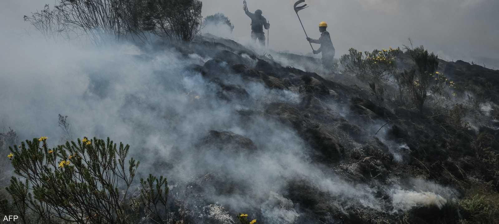
M28 28L22 15L54 0L1 0L0 28ZM222 12L235 24L233 38L250 36L250 19L242 0L204 0L203 14ZM261 9L271 23L270 46L275 50L310 52L298 22L294 0L248 0L251 11ZM307 0L309 8L300 11L309 36L318 38L317 25L324 20L336 54L348 48L361 50L401 46L411 37L443 59L499 61L498 0ZM480 63L480 62L479 62ZM497 65L499 66L499 65ZM492 67L492 66L488 66Z

